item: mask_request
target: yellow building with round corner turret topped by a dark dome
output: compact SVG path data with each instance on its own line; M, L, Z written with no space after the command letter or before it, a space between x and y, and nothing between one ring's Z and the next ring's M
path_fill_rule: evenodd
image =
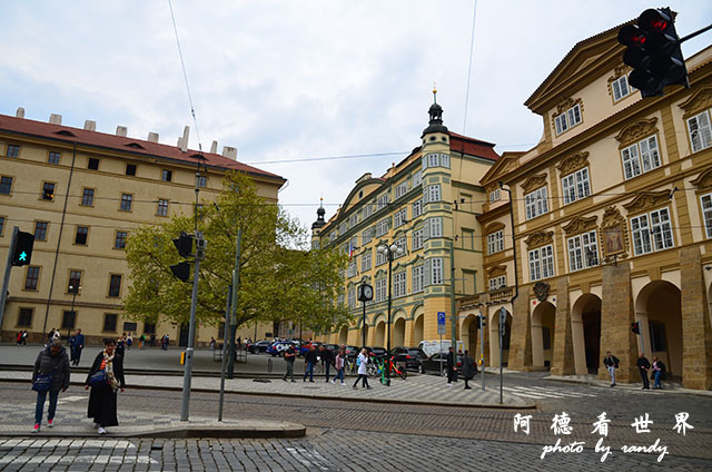
M313 245L337 247L350 255L344 272L344 304L357 317L318 336L338 344L387 346L388 260L382 245L396 245L403 255L392 263L390 345L417 346L437 340L437 314L445 313L445 340L456 330L455 296L482 291L482 247L476 215L484 190L478 180L497 161L494 145L448 131L443 109L429 108L429 126L421 146L382 177L356 180L338 212L327 222L317 210ZM357 287L369 284L374 299L357 301ZM458 334L455 334L459 338Z

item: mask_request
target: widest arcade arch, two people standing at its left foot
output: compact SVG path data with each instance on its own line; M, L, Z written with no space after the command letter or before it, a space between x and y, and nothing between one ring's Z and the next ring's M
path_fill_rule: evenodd
M682 303L680 288L666 281L645 285L635 298L645 356L657 356L669 375L682 377ZM639 350L640 350L640 338Z

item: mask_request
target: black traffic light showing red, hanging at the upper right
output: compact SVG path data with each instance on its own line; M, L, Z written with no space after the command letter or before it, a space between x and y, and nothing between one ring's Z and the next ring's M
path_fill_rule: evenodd
M643 97L663 95L665 86L690 87L680 37L670 8L650 8L637 18L637 24L626 24L619 31L619 42L626 46L623 62L631 66L629 83Z

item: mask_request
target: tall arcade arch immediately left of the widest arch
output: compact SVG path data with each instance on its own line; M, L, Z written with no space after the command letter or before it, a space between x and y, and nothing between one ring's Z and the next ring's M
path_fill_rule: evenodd
M596 374L601 363L601 298L584 294L571 309L574 363L577 375Z

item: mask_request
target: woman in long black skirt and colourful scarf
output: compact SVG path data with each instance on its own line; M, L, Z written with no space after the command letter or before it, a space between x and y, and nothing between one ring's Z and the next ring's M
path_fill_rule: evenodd
M123 357L116 351L116 341L103 340L103 351L97 354L85 382L85 390L90 386L87 416L93 419L93 427L99 434L106 434L108 426L119 424L117 390L123 392L126 389Z

